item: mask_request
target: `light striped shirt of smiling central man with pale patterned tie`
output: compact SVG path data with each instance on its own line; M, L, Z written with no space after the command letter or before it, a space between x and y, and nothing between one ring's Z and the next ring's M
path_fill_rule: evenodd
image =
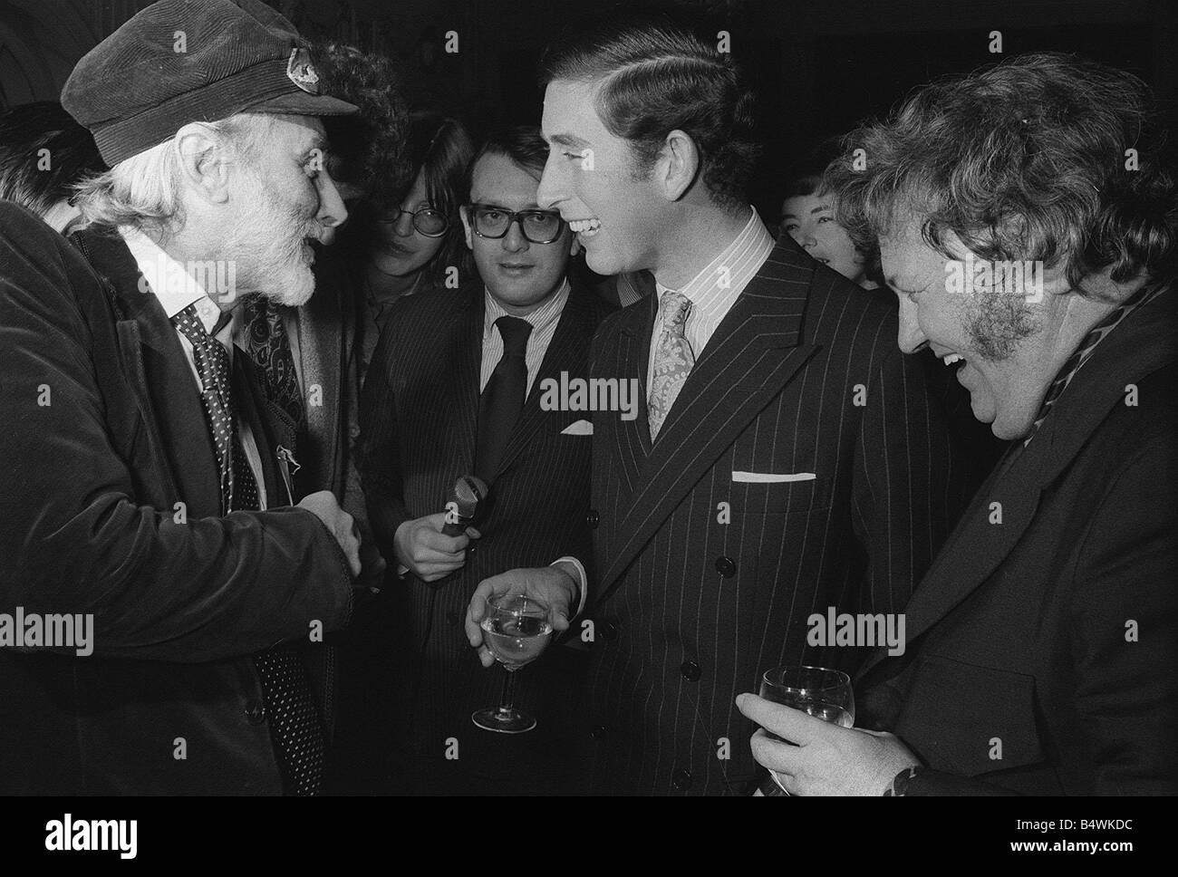
M749 208L753 213L740 234L707 266L703 271L691 278L682 290L682 294L691 301L691 310L687 314L687 323L683 325L683 334L687 343L691 345L691 353L699 360L700 354L707 346L708 340L715 333L716 327L732 306L736 304L737 297L744 291L749 281L756 277L756 272L765 265L769 253L773 252L773 235L765 227L761 217L756 213L756 207ZM647 387L654 383L655 377L655 348L659 346L659 327L662 326L663 307L662 294L667 292L666 286L655 281L655 294L659 297L659 313L655 314L655 330L650 333L650 359L647 366Z

